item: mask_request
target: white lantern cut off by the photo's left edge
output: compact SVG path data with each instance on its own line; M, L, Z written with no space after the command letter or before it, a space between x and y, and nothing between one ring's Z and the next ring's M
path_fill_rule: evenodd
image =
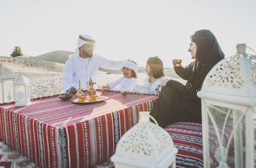
M14 79L12 70L0 64L0 103L14 101Z

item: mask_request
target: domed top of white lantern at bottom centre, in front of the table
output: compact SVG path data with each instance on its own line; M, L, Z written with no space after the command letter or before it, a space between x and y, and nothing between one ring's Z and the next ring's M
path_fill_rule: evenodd
M115 167L175 167L173 141L168 132L149 121L149 112L140 112L140 121L120 139L111 157Z

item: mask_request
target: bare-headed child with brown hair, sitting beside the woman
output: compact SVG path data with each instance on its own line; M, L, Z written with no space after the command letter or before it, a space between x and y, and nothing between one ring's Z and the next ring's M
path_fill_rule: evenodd
M157 56L149 57L145 71L148 76L143 81L143 85L136 85L132 92L158 94L161 91L161 82L164 80L164 66L162 60Z

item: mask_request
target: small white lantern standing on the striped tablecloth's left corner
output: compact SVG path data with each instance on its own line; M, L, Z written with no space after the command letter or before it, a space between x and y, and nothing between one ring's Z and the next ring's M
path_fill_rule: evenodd
M15 106L27 106L31 103L30 101L30 90L29 90L29 81L26 77L19 74L15 78L14 82L14 92L15 92Z

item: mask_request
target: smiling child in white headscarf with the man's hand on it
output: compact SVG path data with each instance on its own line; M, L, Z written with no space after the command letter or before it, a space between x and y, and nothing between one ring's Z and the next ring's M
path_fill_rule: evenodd
M122 72L124 76L116 81L110 82L107 85L102 86L102 88L106 87L109 88L109 90L131 92L132 88L137 83L136 78L138 75L138 66L136 62L132 60L124 61Z

